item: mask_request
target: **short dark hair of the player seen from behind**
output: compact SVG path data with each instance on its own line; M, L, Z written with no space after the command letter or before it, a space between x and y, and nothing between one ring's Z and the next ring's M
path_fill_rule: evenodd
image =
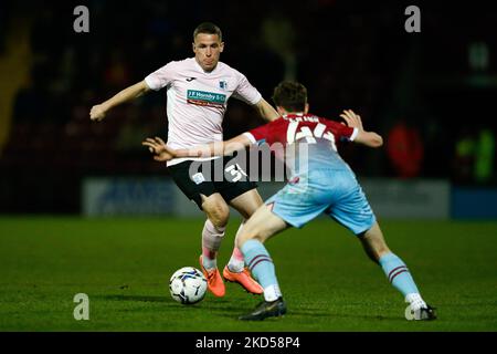
M282 81L274 87L273 102L288 112L303 112L307 103L307 88L296 81Z

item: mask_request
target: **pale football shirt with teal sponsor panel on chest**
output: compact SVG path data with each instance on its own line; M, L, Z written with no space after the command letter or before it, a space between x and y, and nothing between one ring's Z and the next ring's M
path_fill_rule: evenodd
M239 71L219 62L213 71L205 72L194 58L169 62L145 77L145 82L155 91L167 87L167 144L171 148L222 142L228 100L233 96L254 105L262 98ZM211 158L176 158L167 165Z

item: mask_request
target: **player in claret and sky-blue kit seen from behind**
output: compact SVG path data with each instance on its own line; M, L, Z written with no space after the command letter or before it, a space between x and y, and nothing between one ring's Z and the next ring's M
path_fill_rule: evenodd
M288 227L302 228L321 212L357 236L366 253L381 266L392 285L410 303L410 320L435 319L434 309L421 298L405 263L388 248L356 175L337 152L339 140L379 147L383 144L381 136L366 132L360 116L352 111L340 115L346 124L308 114L307 90L299 83L281 83L273 100L282 117L222 144L173 150L160 138L142 143L156 154L156 160L229 155L258 142L269 146L284 144L285 163L292 169L289 183L255 211L237 238L245 262L264 288L264 301L240 319L264 320L286 313L273 260L264 242ZM300 144L306 148L295 148Z

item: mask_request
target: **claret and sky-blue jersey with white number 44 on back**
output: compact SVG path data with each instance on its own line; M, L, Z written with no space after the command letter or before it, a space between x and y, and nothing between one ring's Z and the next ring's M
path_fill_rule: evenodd
M357 128L311 114L284 115L244 133L253 144L266 143L272 148L277 144L283 146L285 163L293 175L304 165L310 169L350 169L338 155L337 142L351 142L357 134ZM298 148L300 143L306 143L305 148Z

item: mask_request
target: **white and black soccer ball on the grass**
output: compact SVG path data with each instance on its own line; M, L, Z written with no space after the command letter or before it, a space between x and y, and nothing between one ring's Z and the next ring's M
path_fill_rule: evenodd
M203 299L207 292L207 279L193 267L178 269L169 280L172 299L182 304L193 304Z

